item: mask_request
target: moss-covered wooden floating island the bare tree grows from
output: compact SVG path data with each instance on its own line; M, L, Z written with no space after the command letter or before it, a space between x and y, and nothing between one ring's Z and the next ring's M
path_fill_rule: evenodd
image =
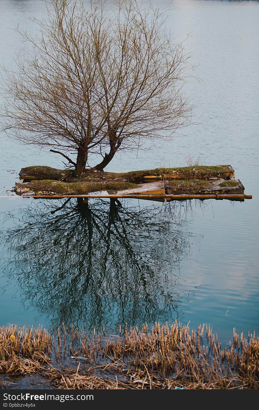
M123 173L29 166L21 169L17 195L33 198L251 199L231 165L194 165Z

